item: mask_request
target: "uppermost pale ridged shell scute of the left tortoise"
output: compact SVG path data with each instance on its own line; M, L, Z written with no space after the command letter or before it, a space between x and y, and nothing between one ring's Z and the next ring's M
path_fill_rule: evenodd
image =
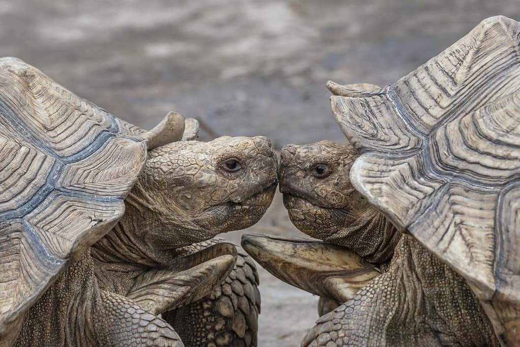
M10 123L18 133L10 137L27 138L50 156L67 158L93 150L117 131L112 115L28 64L0 62L0 89L0 124ZM0 129L0 134L9 135L7 131Z

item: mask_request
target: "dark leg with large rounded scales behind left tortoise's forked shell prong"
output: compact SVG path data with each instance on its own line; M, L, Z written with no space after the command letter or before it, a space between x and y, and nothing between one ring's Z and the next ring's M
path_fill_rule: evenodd
M221 244L222 238L186 247L193 252ZM162 316L187 346L257 346L260 292L253 259L240 247L237 262L225 281L210 295Z

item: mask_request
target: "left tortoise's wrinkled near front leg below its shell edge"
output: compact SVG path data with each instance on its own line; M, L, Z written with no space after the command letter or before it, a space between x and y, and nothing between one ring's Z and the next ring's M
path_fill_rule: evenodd
M32 306L16 346L183 346L163 319L101 289L88 250Z

